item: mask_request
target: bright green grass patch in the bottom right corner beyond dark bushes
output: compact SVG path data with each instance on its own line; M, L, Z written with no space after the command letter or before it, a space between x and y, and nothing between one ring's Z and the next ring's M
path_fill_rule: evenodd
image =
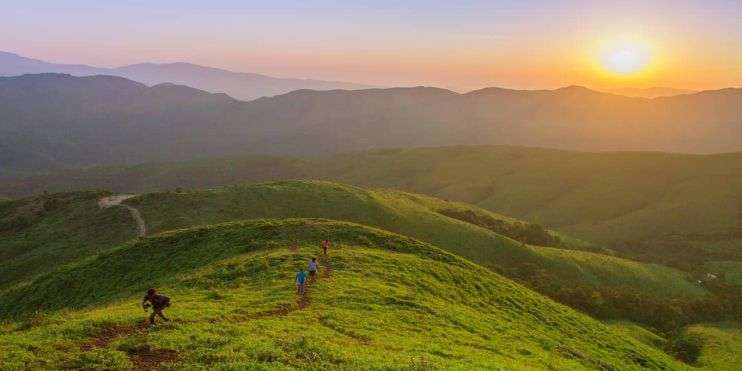
M709 370L739 370L742 365L742 327L738 323L704 323L688 327L703 342L696 365Z

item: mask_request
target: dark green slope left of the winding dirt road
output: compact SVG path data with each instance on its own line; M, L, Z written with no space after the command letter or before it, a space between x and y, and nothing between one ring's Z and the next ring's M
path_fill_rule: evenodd
M136 236L126 210L98 207L103 195L55 194L0 204L0 290Z

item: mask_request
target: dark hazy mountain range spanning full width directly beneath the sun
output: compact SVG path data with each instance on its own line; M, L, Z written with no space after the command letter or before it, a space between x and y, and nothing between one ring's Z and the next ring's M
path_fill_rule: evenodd
M467 94L299 90L241 102L120 77L0 78L0 176L238 153L517 144L691 153L742 149L742 89L644 99L571 86Z

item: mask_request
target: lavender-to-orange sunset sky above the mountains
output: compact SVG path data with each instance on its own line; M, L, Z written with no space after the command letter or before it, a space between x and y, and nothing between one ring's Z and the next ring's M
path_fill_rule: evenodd
M3 0L0 20L0 50L55 63L456 90L742 86L737 0Z

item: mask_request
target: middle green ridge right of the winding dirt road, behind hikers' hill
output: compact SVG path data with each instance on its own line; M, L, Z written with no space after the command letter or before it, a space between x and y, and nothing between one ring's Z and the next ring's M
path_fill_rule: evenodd
M519 242L440 212L469 210L503 223L519 221L461 203L392 190L288 181L154 193L127 202L140 209L148 228L155 232L248 218L347 220L410 236L503 272L524 263L535 264L558 277L565 286L623 287L672 298L698 298L706 294L675 269L594 253L523 247Z

